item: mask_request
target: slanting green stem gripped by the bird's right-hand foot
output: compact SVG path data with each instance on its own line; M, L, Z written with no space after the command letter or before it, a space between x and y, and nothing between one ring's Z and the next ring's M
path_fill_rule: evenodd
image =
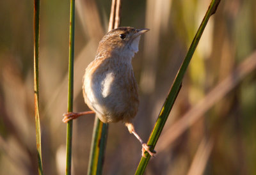
M212 14L215 13L216 9L218 8L219 3L220 3L220 0L212 0L211 1L211 4L205 14L205 17L202 20L202 23L200 24L198 31L196 32L195 38L189 47L188 53L187 53L182 65L180 66L179 72L177 73L175 80L172 84L172 88L170 89L170 92L164 102L161 112L159 112L159 116L157 118L154 129L152 130L150 137L148 139L147 144L148 144L148 146L150 146L150 149L154 149L156 146L159 136L163 130L164 124L170 114L172 107L173 107L173 103L175 102L175 99L179 93L182 79L184 77L184 74L186 73L189 62L191 61L191 57L193 56L193 54L195 52L196 46L198 45L198 42L202 36L202 33L205 29L205 26L206 26L209 18L211 17ZM146 155L146 158L144 158L144 157L141 158L140 164L138 165L138 168L137 168L135 174L143 174L143 172L145 171L148 161L150 160L150 155L148 153L145 153L145 155Z

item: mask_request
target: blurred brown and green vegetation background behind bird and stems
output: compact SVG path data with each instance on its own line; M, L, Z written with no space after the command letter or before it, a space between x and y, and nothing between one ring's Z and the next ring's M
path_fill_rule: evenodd
M150 29L132 61L140 86L140 110L134 123L145 141L209 3L123 1L121 26ZM255 6L253 0L221 1L206 26L157 143L156 158L150 160L145 174L256 174L255 66L218 98L215 93L209 96L226 77L236 77L234 70L240 63L248 57L256 59ZM108 29L110 7L111 1L76 1L74 111L88 110L82 77ZM67 111L69 1L41 1L40 8L44 173L64 174L66 125L61 119ZM0 11L0 174L37 174L33 1L0 1ZM225 88L215 92L221 89ZM86 174L93 121L93 115L74 121L73 174ZM109 125L103 174L134 174L140 149L122 123Z

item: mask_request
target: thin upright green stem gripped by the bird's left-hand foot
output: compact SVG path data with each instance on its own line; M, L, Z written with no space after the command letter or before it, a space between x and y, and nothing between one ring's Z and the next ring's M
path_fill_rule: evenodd
M75 0L70 0L70 27L69 27L69 58L68 58L68 112L73 110L74 91L74 31L75 31ZM66 174L71 174L72 158L72 128L73 121L67 123L67 159Z

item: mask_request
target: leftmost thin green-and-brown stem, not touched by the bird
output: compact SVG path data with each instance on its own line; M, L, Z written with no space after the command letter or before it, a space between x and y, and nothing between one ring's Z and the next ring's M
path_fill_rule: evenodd
M40 0L34 0L34 95L35 95L35 124L36 124L36 150L38 158L38 174L43 174L41 129L39 117L39 21Z

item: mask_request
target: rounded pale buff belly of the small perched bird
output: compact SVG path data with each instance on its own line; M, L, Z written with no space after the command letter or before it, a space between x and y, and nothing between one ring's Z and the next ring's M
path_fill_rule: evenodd
M138 111L138 88L132 70L123 73L88 71L84 75L84 100L104 123L130 121Z

